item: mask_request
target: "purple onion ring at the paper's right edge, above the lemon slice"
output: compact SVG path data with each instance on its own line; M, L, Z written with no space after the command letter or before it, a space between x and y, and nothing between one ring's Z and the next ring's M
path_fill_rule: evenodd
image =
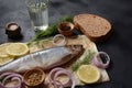
M105 59L107 61L107 63L105 63L105 64L102 63L100 55L103 55L103 56L105 56ZM92 63L94 63L97 67L105 69L105 68L107 68L107 67L109 66L109 64L110 64L110 57L109 57L109 55L108 55L107 53L105 53L105 52L99 52L98 54L95 55L95 57L94 57L94 59L92 59Z

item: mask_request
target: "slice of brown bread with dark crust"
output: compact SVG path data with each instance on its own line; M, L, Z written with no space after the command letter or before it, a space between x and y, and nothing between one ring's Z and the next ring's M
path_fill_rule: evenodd
M95 42L106 38L111 31L110 22L95 14L75 15L74 24L85 35Z

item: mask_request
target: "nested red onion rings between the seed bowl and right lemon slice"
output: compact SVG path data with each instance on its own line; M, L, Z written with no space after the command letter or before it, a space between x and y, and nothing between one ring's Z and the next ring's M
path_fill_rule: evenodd
M57 77L62 75L67 76L68 80L65 82L61 82L61 80L58 80ZM54 68L50 72L48 80L50 86L54 86L54 88L64 88L69 86L72 86L72 88L75 88L76 86L76 78L74 77L74 75L70 72L61 67Z

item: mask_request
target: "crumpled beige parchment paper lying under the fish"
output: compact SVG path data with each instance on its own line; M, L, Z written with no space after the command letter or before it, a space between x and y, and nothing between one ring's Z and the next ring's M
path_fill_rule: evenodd
M84 56L85 56L85 53L87 51L91 51L91 52L95 52L95 53L98 53L98 50L97 50L97 46L94 42L91 42L87 36L85 35L77 35L77 36L70 36L70 37L66 37L66 41L67 41L67 45L74 45L74 44L81 44L85 48L85 52L84 54L78 58L78 59L82 59ZM44 50L44 48L51 48L51 47L54 47L55 45L53 45L53 37L50 37L50 38L45 38L45 40L42 40L42 41L38 41L38 42L34 42L30 45L30 53L33 53L33 52L36 52L36 51L41 51L41 50ZM78 61L77 59L77 61ZM76 62L77 62L76 61ZM72 68L70 66L66 67L68 70L72 72ZM109 81L109 76L107 74L107 72L105 69L99 69L100 73L101 73L101 78L99 80L99 82L103 82L103 81ZM47 73L48 74L48 73ZM73 74L75 74L75 77L77 78L77 81L78 84L77 85L85 85L84 82L81 82L76 73L73 72ZM47 80L47 79L46 79ZM47 80L48 81L48 80Z

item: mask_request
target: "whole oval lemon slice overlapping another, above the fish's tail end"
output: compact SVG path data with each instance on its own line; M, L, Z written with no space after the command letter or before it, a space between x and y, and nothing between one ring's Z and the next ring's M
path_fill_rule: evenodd
M28 54L29 47L25 43L12 43L7 46L7 53L12 56L22 56Z

